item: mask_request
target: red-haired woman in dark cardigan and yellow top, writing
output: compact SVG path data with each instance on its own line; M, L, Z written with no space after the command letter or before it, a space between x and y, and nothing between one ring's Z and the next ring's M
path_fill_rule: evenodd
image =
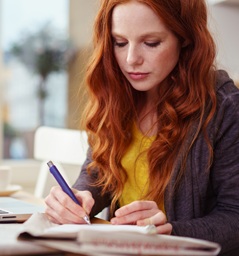
M102 0L87 69L90 150L46 198L56 223L112 224L239 246L239 90L214 67L204 0ZM112 218L113 217L113 218Z

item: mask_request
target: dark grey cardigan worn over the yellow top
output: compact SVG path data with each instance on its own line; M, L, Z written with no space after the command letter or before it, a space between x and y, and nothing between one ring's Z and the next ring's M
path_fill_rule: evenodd
M239 255L239 89L220 70L217 75L217 110L210 121L208 137L214 148L213 164L206 173L209 152L200 132L187 157L185 176L177 193L171 193L180 170L177 165L165 193L167 221L172 235L194 237L222 245L220 255ZM90 153L74 184L89 190L95 199L91 216L110 205L110 195L90 186L87 165ZM97 171L96 171L97 175Z

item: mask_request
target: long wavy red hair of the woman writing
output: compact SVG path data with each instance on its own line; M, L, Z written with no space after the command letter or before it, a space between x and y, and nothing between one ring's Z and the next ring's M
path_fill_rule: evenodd
M152 7L160 19L187 47L181 49L179 61L158 89L158 133L147 152L149 189L145 198L160 205L166 187L181 159L181 169L174 186L185 172L188 152L203 130L209 149L208 168L212 163L212 146L206 134L216 109L216 47L207 28L205 0L137 0ZM87 171L97 169L93 186L112 196L111 212L122 195L127 175L120 163L130 145L132 122L145 102L145 92L132 88L114 57L111 36L113 8L130 0L101 0L95 20L94 52L87 67L88 103L83 123L89 135L93 162Z

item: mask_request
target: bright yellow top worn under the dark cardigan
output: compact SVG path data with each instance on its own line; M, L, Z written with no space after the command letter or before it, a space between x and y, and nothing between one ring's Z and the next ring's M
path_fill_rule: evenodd
M146 195L149 187L149 184L147 183L149 175L147 151L155 137L156 136L144 137L134 122L132 128L132 141L121 158L121 164L126 170L128 179L124 185L122 197L119 201L120 207L130 204L133 201L141 200L141 198ZM164 204L163 209L161 210L163 210L163 213L165 214Z

